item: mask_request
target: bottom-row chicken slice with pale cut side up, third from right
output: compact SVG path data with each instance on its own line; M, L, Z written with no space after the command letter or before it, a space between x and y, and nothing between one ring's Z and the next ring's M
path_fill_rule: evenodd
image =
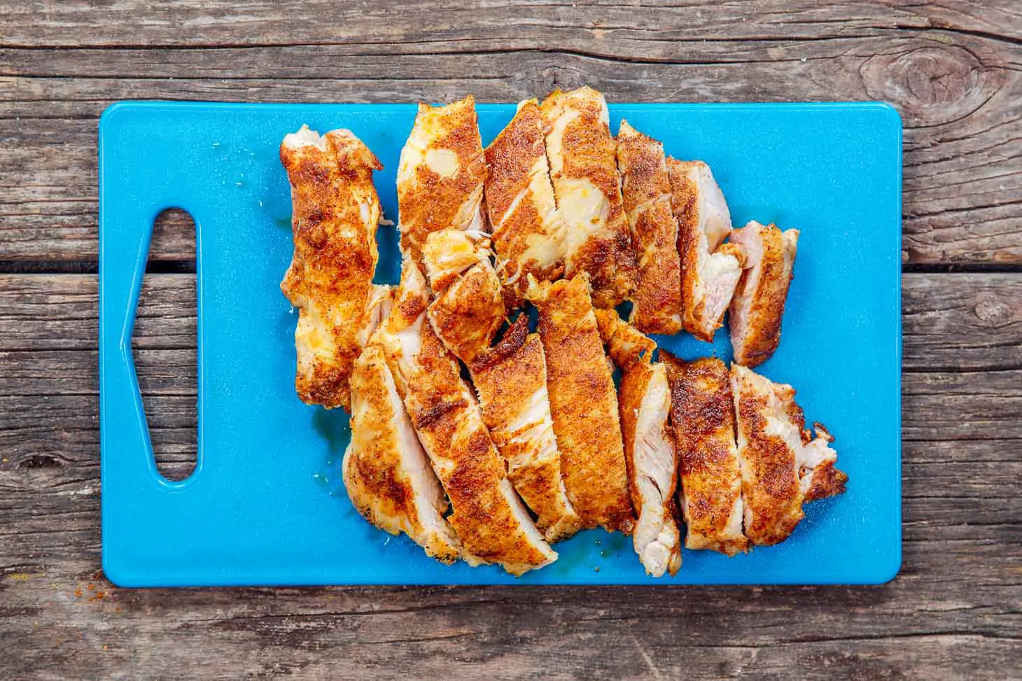
M653 342L616 312L598 310L597 319L600 335L621 369L618 402L624 459L632 505L639 516L633 534L636 553L651 577L676 575L682 566L682 540L675 519L678 449L669 422L667 369L653 363L648 349Z

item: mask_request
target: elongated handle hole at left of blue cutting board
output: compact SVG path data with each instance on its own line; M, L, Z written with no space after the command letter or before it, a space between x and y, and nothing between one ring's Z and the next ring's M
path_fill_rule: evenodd
M180 209L152 225L132 355L156 469L183 481L197 462L195 222Z

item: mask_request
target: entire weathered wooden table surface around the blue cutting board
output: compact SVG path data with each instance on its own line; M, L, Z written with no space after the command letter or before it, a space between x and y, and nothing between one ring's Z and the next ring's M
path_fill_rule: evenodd
M1022 4L0 0L6 678L1022 678ZM96 123L130 98L883 99L904 120L904 564L869 588L117 589L100 572ZM193 232L135 335L195 438ZM869 244L867 244L868 247Z

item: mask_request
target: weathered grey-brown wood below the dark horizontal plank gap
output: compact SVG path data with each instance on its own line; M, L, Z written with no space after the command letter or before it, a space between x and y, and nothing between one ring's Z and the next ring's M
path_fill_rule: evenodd
M1022 274L909 274L903 287L904 566L892 584L120 590L97 574L95 277L0 276L0 667L1005 678L1022 646ZM171 470L194 451L193 306L192 275L146 277L133 345Z

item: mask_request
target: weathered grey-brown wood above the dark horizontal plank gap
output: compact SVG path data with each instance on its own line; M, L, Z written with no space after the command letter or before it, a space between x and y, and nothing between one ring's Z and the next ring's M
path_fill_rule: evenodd
M5 259L95 260L96 118L118 99L516 101L591 83L611 101L890 101L904 261L1022 264L1013 0L214 4L0 2ZM191 258L192 235L153 253Z

